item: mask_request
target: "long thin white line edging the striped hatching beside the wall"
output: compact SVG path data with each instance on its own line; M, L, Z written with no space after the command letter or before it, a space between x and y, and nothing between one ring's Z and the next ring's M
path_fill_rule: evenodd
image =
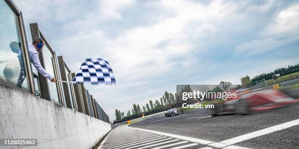
M128 125L127 125L127 127L128 127ZM129 128L132 128L132 127L129 127ZM165 132L159 132L159 131L153 131L153 130L145 130L145 129L140 129L140 128L132 128L132 129L144 130L144 131L161 134L161 135L166 135L169 137L187 140L187 141L191 141L191 142L195 142L195 143L199 143L199 144L203 144L203 145L211 144L214 142L214 141L208 141L208 140L197 139L197 138L192 138L192 137L187 137L187 136L182 136L182 135L177 135L177 134L170 134L170 133L165 133Z

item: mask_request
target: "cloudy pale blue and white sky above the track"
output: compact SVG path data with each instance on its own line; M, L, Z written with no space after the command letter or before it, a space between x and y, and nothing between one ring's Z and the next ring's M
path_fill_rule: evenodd
M299 63L299 1L14 0L77 73L107 60L115 86L86 85L110 119L176 84L218 84Z

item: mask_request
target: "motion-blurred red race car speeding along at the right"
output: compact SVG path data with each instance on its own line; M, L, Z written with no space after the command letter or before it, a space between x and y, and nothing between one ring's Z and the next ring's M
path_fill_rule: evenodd
M273 89L257 92L249 90L230 92L236 92L237 97L215 103L214 108L209 111L211 115L216 116L220 113L250 114L299 102L299 99L294 99Z

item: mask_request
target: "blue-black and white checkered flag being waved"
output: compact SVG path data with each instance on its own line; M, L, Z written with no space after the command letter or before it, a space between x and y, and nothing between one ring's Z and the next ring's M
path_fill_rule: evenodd
M116 84L109 63L101 58L87 58L82 63L79 73L73 78L76 83Z

